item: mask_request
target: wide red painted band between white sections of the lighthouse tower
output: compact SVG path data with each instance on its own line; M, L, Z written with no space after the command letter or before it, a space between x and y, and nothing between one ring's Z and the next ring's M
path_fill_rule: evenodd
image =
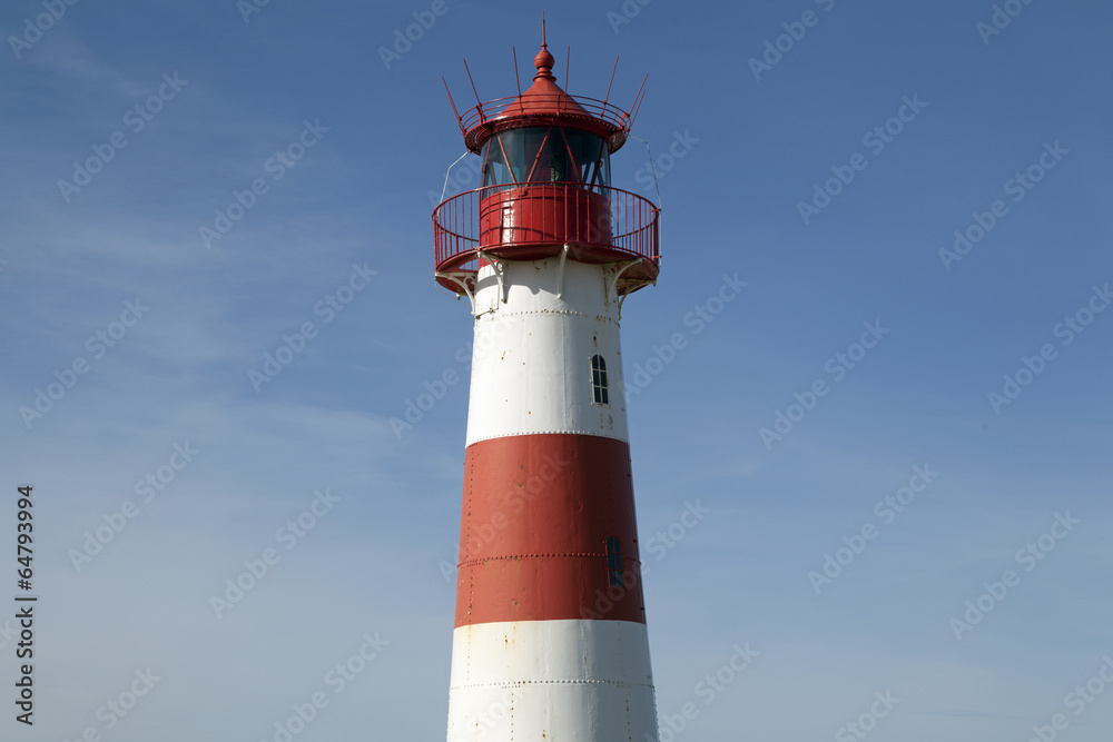
M623 585L610 584L607 538ZM467 447L456 625L646 622L630 447L591 435L518 435Z

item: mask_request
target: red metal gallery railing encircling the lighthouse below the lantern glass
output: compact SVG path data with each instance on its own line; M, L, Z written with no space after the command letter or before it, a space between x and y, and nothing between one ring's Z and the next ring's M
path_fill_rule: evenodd
M479 250L572 245L600 260L660 260L660 209L621 188L579 182L486 186L433 210L437 269L464 268ZM471 266L474 267L474 266Z

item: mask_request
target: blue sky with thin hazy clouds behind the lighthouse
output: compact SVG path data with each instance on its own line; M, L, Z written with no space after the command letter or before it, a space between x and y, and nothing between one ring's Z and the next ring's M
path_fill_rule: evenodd
M0 10L0 540L33 484L41 595L3 739L274 740L315 693L294 739L443 739L471 320L432 280L440 76L513 95L541 6L56 4ZM1113 9L997 8L548 9L571 92L649 73L664 257L622 329L662 740L1109 739ZM656 199L647 162L614 185Z

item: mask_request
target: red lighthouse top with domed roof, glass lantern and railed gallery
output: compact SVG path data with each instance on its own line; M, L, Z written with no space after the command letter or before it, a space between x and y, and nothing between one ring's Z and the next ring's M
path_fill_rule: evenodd
M660 210L611 185L610 157L626 142L633 117L608 101L610 87L601 101L564 92L553 62L542 42L524 92L487 102L476 96L463 115L449 96L483 172L480 188L433 211L434 275L457 296L471 296L479 267L495 260L559 256L617 264L619 295L657 280ZM641 97L639 91L634 112Z

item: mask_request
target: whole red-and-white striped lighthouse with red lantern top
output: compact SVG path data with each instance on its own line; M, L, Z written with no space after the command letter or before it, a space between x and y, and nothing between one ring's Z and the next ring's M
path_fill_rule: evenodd
M475 319L447 740L656 742L619 319L658 209L610 182L632 117L533 61L456 115L483 186L433 211Z

